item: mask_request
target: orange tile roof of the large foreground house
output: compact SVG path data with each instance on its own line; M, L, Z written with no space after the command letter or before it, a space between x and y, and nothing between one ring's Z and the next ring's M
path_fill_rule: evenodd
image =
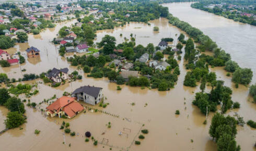
M62 96L57 99L54 103L46 107L48 111L58 113L62 108L62 110L69 116L73 117L76 115L76 112L84 110L84 107L79 103L75 102L75 97Z

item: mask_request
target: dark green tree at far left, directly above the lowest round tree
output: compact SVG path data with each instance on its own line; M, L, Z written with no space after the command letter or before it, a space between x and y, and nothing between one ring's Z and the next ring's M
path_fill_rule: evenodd
M5 103L5 106L11 112L18 111L20 114L24 114L25 113L24 104L17 97L10 97L9 99L7 99L7 102Z

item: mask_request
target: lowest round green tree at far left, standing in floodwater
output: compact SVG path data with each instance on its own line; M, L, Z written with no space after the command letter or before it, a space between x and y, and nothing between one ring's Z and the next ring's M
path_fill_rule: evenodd
M25 118L18 111L8 112L5 126L9 129L14 129L25 123Z

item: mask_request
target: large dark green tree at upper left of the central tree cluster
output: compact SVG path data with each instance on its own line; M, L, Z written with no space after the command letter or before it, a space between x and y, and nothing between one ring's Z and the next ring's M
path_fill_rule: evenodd
M115 37L107 34L102 38L101 42L98 43L98 47L103 47L104 54L112 54L115 48L115 41Z

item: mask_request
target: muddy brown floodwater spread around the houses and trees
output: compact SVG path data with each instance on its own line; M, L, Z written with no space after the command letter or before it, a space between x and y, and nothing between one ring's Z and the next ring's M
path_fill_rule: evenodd
M36 46L41 49L41 60L36 63L28 61L24 68L26 72L41 73L52 67L68 67L71 66L65 59L57 54L54 45L49 43L64 25L70 25L74 21L57 24L55 29L47 29L40 36L34 37L29 35L28 44L20 44L16 49L8 51L25 51L28 46ZM117 38L117 42L123 41L119 39L120 33L123 37L129 37L130 33L136 34L136 44L144 46L152 42L158 44L161 37L173 37L177 42L177 36L180 30L168 24L166 19L158 19L150 21L151 26L141 23L130 23L125 27L116 28L115 30L104 30L98 32L99 41L104 34L111 34ZM159 33L153 31L153 27L159 27ZM140 29L138 27L141 27ZM146 30L147 29L147 30ZM146 36L146 37L142 37ZM23 47L23 48L22 48ZM48 50L48 51L46 51ZM48 54L48 55L47 55ZM72 92L77 87L82 85L94 85L103 88L103 94L109 105L106 108L90 106L99 110L106 111L109 114L101 112L80 113L73 119L59 119L57 117L44 117L40 109L45 109L46 103L43 103L32 109L26 106L27 123L19 128L8 130L0 135L0 146L4 150L217 150L216 144L212 141L208 134L208 129L211 124L213 113L208 116L207 124L204 125L205 116L200 110L192 105L194 94L199 92L199 87L191 88L183 86L183 80L186 70L182 60L179 62L181 74L174 89L166 92L157 90L142 90L140 87L130 87L121 85L122 90L117 91L117 84L110 83L107 78L93 79L86 77L86 74L79 71L79 74L84 75L82 80L66 83L57 88L50 87L45 84L38 84L39 93L30 98L31 102L39 104L42 100L48 99L56 94L61 97L64 91ZM72 67L72 70L75 68ZM240 109L228 111L229 115L234 115L238 112L245 121L255 119L256 105L251 103L252 98L248 95L248 88L239 85L239 89L234 88L231 79L226 77L226 72L223 68L211 68L215 71L218 79L225 81L225 85L230 86L233 90L232 100L241 104ZM10 67L1 69L13 77L20 77L18 67ZM16 73L15 73L16 72ZM24 83L35 83L40 80L27 81ZM210 87L207 87L207 92ZM22 99L23 95L20 96ZM135 103L134 106L131 104ZM147 104L147 105L146 105ZM84 104L85 105L85 104ZM175 115L174 112L179 109L181 114ZM0 107L0 128L4 129L2 122L7 114L7 109ZM116 115L114 117L111 115ZM69 134L63 134L60 130L62 121L70 123L71 131L79 133L74 137ZM111 122L111 128L107 128L106 124ZM143 126L143 124L145 124ZM125 129L124 129L125 128ZM256 131L248 125L244 127L238 126L237 143L241 145L242 150L254 150ZM34 130L40 130L39 135L34 134ZM134 145L133 140L138 140L138 135L141 134L141 129L148 129L149 133L145 134L145 139L140 140L141 145ZM84 133L90 131L92 136L98 140L98 146L94 146L92 141L85 142ZM119 135L119 132L123 132ZM103 141L102 141L103 140ZM191 143L193 140L193 143ZM63 144L64 142L64 144ZM71 144L71 147L68 144ZM103 145L103 144L108 145ZM2 150L2 149L1 149Z

